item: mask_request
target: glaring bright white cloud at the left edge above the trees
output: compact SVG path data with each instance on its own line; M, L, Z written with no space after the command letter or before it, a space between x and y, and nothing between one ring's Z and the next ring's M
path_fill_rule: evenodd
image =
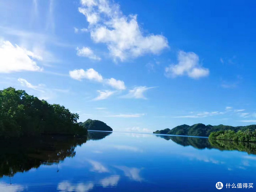
M18 45L13 46L10 41L0 42L0 73L41 71L35 60L42 60L42 57Z

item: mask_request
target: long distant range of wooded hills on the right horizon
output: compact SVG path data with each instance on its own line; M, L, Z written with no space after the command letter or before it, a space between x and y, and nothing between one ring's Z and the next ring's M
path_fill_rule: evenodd
M189 136L202 136L208 137L211 132L213 131L225 131L225 130L232 130L232 131L245 131L249 129L250 131L254 131L256 129L256 125L248 125L248 126L229 126L229 125L205 125L202 123L194 124L192 126L189 125L179 125L174 127L173 129L164 129L164 130L157 130L153 133L156 134L169 134L169 135L189 135Z

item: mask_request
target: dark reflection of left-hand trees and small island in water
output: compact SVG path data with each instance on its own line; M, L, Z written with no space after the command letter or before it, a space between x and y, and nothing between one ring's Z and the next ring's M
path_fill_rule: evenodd
M41 164L58 164L66 157L74 157L77 146L88 140L103 139L110 134L89 131L87 137L41 136L1 140L0 178L38 168Z

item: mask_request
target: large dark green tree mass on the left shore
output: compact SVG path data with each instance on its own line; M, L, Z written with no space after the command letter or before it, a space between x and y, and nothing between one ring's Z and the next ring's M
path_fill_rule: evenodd
M86 135L87 130L77 124L78 118L64 106L49 104L23 90L0 90L0 137Z

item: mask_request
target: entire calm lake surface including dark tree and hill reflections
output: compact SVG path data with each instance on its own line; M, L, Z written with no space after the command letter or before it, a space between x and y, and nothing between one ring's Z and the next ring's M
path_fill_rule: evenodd
M1 146L0 191L216 191L217 182L256 190L254 143L90 132Z

